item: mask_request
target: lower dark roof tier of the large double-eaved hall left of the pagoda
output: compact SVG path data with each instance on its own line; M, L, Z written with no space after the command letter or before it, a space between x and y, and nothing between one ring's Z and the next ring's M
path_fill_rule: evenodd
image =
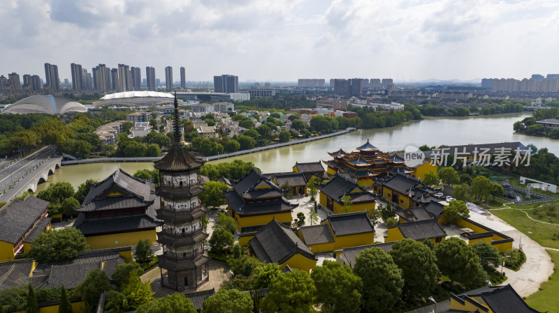
M79 229L84 236L155 229L157 226L161 226L161 224L146 214L87 220L85 219L85 214L80 213L74 222L74 227Z

